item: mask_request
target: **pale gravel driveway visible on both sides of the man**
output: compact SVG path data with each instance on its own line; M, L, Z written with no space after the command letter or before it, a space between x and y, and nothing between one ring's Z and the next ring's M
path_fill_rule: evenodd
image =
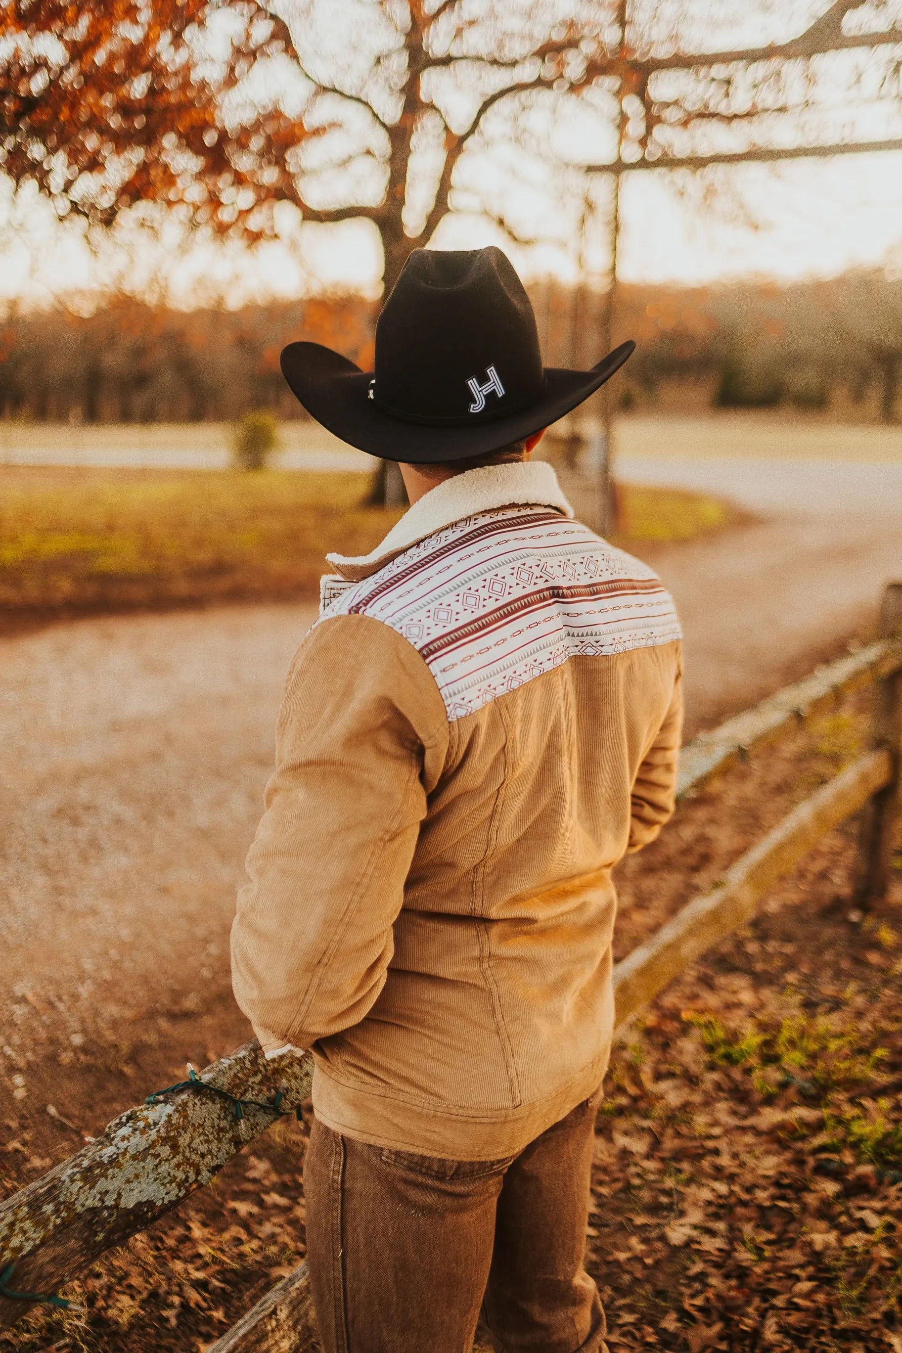
M902 486L895 465L664 460L625 468L771 514L655 555L684 620L696 728L868 622L902 576ZM28 992L58 1001L45 1024L62 1030L224 992L279 691L310 618L224 607L0 640L0 992L18 1017Z

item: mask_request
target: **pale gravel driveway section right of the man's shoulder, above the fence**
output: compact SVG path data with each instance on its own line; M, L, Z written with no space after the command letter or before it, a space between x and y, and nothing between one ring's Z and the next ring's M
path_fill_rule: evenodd
M763 518L653 556L686 632L690 735L867 635L880 589L902 579L902 460L692 456L680 446L621 453L617 469L632 483L730 498Z

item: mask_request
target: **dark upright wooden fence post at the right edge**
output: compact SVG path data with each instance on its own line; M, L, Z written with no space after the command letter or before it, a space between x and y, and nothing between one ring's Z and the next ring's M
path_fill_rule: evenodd
M880 606L880 639L902 637L902 582L888 583ZM902 763L902 671L876 682L874 690L874 746L893 756L893 779L871 798L861 819L855 904L865 911L879 901L890 882L893 828L899 809Z

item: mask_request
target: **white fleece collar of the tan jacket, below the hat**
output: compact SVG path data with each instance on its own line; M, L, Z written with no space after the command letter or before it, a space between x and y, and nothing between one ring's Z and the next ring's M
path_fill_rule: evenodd
M548 461L518 460L504 465L480 465L479 469L453 475L423 494L369 555L326 555L326 559L339 578L358 582L454 521L518 503L554 507L565 517L573 515Z

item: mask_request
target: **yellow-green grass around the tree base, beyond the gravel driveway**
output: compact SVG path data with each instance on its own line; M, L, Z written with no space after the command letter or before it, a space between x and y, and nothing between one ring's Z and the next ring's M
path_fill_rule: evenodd
M0 613L165 607L315 594L330 549L365 553L398 510L366 474L0 467ZM626 487L623 543L729 524L698 494Z

